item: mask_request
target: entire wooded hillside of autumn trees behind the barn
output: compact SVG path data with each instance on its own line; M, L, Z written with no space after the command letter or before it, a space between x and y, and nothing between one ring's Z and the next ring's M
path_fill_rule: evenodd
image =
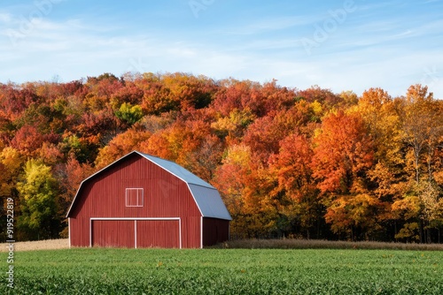
M217 187L233 238L440 243L443 101L125 74L0 84L0 231L14 200L17 240L66 237L91 173L136 149Z

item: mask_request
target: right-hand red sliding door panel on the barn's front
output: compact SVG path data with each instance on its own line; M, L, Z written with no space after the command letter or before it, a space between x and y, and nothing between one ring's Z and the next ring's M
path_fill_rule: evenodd
M137 220L137 248L180 248L179 220Z

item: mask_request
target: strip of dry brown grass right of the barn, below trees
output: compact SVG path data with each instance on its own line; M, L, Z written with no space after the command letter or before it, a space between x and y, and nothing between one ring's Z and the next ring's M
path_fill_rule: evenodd
M318 239L238 239L217 247L238 249L391 249L391 250L443 250L443 244L405 244L383 242L346 242Z

